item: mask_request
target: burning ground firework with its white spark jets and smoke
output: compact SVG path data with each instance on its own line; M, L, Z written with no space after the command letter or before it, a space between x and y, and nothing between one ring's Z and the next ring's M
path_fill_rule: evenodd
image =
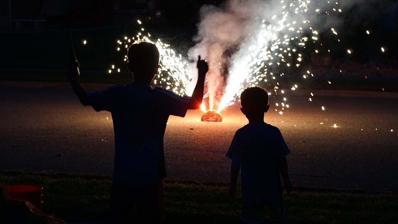
M320 33L334 35L334 41L339 41L337 28L316 28L341 13L338 2L253 2L256 4L231 0L222 9L204 7L202 10L205 13L195 37L197 44L188 52L191 61L201 55L209 63L207 92L201 106L207 115L204 114L202 120L212 120L212 117L222 120L219 111L234 104L245 86L252 85L266 88L270 96L279 99L275 111L283 114L289 107L284 94L298 86L289 83L290 88L284 90L281 86L286 88L287 84L281 85L282 77L299 67L304 55L330 52L330 45L322 42ZM261 8L267 8L267 12L258 12ZM150 34L143 33L144 28L134 37L117 40L120 46L117 50L125 50L135 41L151 41ZM154 84L179 95L191 95L196 83L196 75L191 74L196 73L196 68L190 67L188 59L177 54L169 44L160 39L155 42L160 51L160 68ZM115 69L112 66L109 72ZM304 79L314 76L310 71L298 75Z

